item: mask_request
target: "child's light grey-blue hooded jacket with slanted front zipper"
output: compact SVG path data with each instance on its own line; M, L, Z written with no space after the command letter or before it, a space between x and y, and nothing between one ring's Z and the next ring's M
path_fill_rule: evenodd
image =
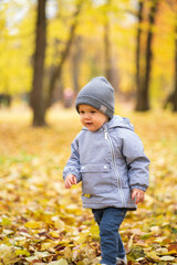
M149 160L128 119L114 116L94 132L84 127L71 148L63 178L82 181L84 208L136 209L131 190L147 189Z

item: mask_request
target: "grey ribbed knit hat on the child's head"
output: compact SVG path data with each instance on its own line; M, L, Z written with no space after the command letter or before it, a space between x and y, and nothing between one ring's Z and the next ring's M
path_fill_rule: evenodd
M105 77L95 77L80 91L75 100L77 112L81 104L93 106L112 118L114 115L114 88Z

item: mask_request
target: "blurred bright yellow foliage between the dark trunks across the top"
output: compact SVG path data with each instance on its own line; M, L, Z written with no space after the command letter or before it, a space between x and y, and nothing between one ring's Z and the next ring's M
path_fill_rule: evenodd
M35 49L35 1L1 1L0 8L0 93L12 95L29 93L33 78L33 54ZM56 65L65 47L73 22L77 1L49 1L46 6L46 52L44 91L53 66ZM149 8L148 1L145 2ZM175 1L159 1L153 41L153 71L150 96L163 104L173 89L175 57ZM24 13L23 13L24 10ZM54 11L54 12L53 12ZM18 13L19 12L19 13ZM52 13L52 14L51 14ZM54 14L53 14L54 13ZM20 15L19 15L20 14ZM23 14L21 17L21 14ZM105 23L110 23L110 43L118 88L135 91L135 53L138 23L137 4L134 1L82 1L76 26L81 38L79 85L90 77L105 72ZM21 19L19 19L21 18ZM140 25L147 31L147 22ZM73 43L74 45L74 43ZM79 50L77 45L74 46ZM62 71L63 87L73 86L73 51ZM128 62L128 63L127 63ZM164 68L165 74L164 74Z

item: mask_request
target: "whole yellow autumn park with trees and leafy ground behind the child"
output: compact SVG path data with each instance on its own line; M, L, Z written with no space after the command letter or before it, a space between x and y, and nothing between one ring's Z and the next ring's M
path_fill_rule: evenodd
M122 226L128 265L177 264L175 0L1 0L0 264L98 264L81 184L62 180L82 128L74 98L98 75L152 162L146 201Z

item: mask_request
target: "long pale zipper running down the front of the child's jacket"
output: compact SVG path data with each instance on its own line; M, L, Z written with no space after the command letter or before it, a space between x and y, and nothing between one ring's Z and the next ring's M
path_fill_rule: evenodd
M115 171L115 174L116 174L117 180L118 180L118 188L119 188L119 194L121 194L122 203L123 203L123 206L126 208L125 198L124 198L124 193L123 193L123 189L122 189L122 184L121 184L121 176L119 176L117 167L116 167L116 159L115 159L115 152L114 152L112 139L111 139L110 134L107 132L107 130L105 128L104 128L104 134L105 134L105 139L107 140L110 149L111 149L114 171Z

